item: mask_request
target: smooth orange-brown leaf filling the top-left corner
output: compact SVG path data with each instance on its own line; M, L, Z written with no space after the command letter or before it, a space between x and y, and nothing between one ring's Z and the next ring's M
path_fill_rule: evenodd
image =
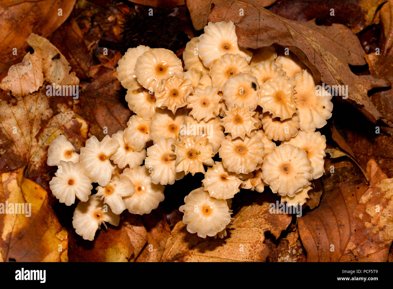
M47 37L70 15L76 0L2 1L0 5L0 74L19 62L30 33ZM59 15L61 8L61 14ZM17 55L13 53L17 49Z

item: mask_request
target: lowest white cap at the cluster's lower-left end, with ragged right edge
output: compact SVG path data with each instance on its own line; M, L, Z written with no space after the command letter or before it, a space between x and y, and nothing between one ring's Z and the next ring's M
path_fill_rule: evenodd
M97 195L91 195L87 202L79 202L75 208L72 226L83 239L93 241L95 232L101 224L107 227L105 222L108 222L118 226L119 221L120 217L114 214L108 205L105 205Z

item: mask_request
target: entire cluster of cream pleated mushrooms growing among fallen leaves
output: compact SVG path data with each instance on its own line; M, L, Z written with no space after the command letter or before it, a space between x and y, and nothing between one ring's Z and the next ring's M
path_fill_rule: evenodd
M303 204L324 173L326 139L315 130L331 117L332 96L316 93L295 55L241 48L233 22L209 22L183 61L163 48L129 48L117 68L135 113L127 128L92 136L80 155L63 135L51 143L48 165L59 168L50 189L68 206L80 200L72 223L84 239L101 223L118 225L123 210L149 214L165 185L188 173L204 179L179 210L203 238L226 236L240 188L270 186L281 202Z

